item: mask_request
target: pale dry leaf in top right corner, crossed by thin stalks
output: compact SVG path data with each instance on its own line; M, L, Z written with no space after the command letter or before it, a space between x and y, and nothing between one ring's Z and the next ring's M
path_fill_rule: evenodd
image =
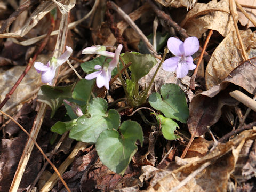
M256 1L255 0L246 0L246 1L236 0L236 2L239 3L239 4L256 6ZM243 7L243 9L250 15L250 17L254 21L256 21L256 10L255 9L245 8L245 7ZM237 9L237 13L238 13L238 20L240 21L241 25L246 26L247 28L255 27L253 25L253 23L251 21L249 21L249 19L247 17L245 17L245 15L239 9Z

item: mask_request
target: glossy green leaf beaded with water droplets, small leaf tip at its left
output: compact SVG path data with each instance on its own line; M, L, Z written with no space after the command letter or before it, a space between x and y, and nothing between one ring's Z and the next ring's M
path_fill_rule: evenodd
M106 111L107 101L105 99L92 99L87 106L87 112L91 115L90 118L83 115L70 122L57 122L51 130L59 134L70 130L70 138L87 143L95 143L102 131L118 129L120 125L119 113L115 109Z

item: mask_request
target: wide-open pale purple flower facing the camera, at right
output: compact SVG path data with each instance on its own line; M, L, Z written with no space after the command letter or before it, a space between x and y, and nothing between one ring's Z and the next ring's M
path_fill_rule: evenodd
M184 43L175 37L170 37L167 42L169 51L175 55L166 59L163 69L166 71L176 71L178 78L185 77L188 70L193 70L196 65L193 63L193 55L199 49L199 41L196 37L188 37Z

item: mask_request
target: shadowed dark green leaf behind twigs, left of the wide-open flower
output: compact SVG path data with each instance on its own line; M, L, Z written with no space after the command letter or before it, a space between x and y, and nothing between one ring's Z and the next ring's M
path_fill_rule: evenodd
M169 37L170 35L168 33L163 34L163 33L156 32L156 51L157 52L160 51L164 46L166 46L166 43ZM149 39L150 43L153 44L153 34L148 35L147 38ZM148 51L147 46L142 40L140 41L138 47L141 53L143 54L150 53Z

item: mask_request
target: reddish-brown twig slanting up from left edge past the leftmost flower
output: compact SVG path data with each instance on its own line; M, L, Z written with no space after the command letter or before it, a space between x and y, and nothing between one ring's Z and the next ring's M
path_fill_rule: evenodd
M17 80L17 82L14 84L14 86L13 86L12 89L9 91L9 93L6 94L4 100L0 103L0 109L2 109L2 107L5 105L5 103L11 98L13 92L16 90L16 88L18 87L18 85L20 84L20 82L22 81L22 79L25 77L25 75L28 73L29 69L31 68L31 66L32 66L33 63L35 62L35 60L36 60L38 54L40 54L40 53L43 51L43 49L44 49L44 47L45 47L45 45L46 45L46 43L47 43L47 41L48 41L48 39L49 39L49 37L50 37L50 34L52 33L52 31L53 31L53 29L54 29L54 27L55 27L55 21L54 21L54 19L52 18L52 19L51 19L51 27L50 27L50 29L49 29L49 31L48 31L48 33L47 33L47 36L45 37L45 39L44 39L44 41L42 42L41 46L39 47L38 51L35 53L34 57L29 59L29 63L28 63L28 65L27 65L26 69L23 71L23 73L21 74L21 76L19 77L19 79Z

